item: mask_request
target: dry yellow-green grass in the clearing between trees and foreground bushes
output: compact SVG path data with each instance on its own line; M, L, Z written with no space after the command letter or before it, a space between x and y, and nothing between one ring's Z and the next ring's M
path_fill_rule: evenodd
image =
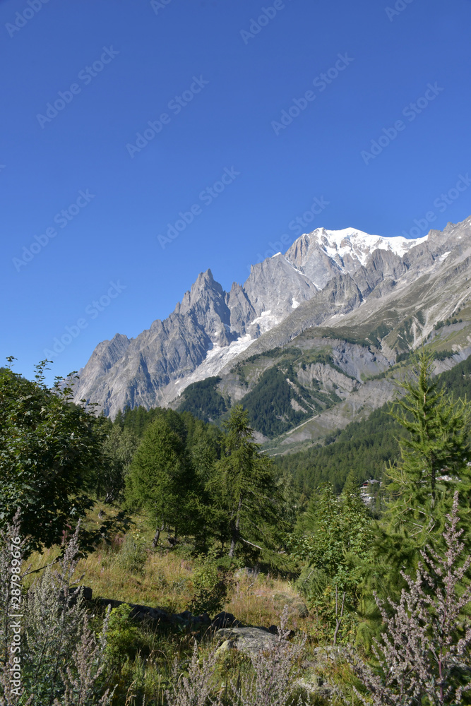
M109 505L96 503L85 525L90 527L99 522L100 511L108 516L117 512ZM131 530L125 537L110 537L81 559L77 568L77 574L83 575L81 582L93 589L95 598L145 604L172 612L188 609L194 595L193 575L198 562L189 556L189 552L188 556L183 556L182 549L166 549L165 534L162 537L164 546L152 549L152 538L153 532L146 525L145 518L133 516ZM130 541L132 544L129 544ZM126 556L124 546L136 547L138 561L131 564L132 570L126 568L129 557ZM31 570L40 569L54 561L60 551L61 547L55 546L42 553L35 553L27 562L28 566ZM30 573L25 579L25 587L37 575ZM244 569L233 570L227 575L227 596L223 609L234 614L243 624L268 628L280 624L280 615L287 603L292 607L287 627L295 630L298 635L307 635L303 659L311 660L319 644L320 630L315 616L299 616L297 607L300 601L292 582L282 576L257 574ZM117 614L121 623L117 623L118 629L113 626L109 633L110 654L114 657L105 686L117 687L113 706L142 706L144 698L146 705L161 705L165 701L165 688L168 688L172 679L174 660L177 659L179 669L186 670L194 640L199 642L201 656L213 648L214 642L206 639L209 635L195 633L191 626L160 628L145 624L129 625L126 622L129 619L125 618L124 613L122 616ZM95 607L93 614L98 626L102 609ZM251 669L251 662L246 656L230 650L217 662L216 681L222 688L231 678L249 674ZM313 703L324 702L316 697Z

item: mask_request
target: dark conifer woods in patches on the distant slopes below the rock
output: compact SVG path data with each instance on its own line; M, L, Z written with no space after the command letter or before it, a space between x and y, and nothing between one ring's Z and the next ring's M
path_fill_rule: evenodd
M407 354L407 357L410 359L410 354ZM432 358L437 359L436 353L432 354ZM249 412L251 421L253 414L258 412L263 414L264 418L272 420L270 422L272 431L276 429L277 433L282 433L283 422L276 419L276 406L273 407L273 404L281 404L285 381L281 380L282 376L278 376L274 369L269 369L267 372L270 373L272 384L263 385L261 381L253 392L242 400L242 405ZM188 390L186 400L178 408L179 412L190 412L198 419L203 417L206 422L209 421L209 410L209 416L218 421L222 412L227 416L227 407L216 390L219 381L220 378L213 377L202 383L190 385L186 389ZM459 398L470 400L471 360L468 358L451 370L441 373L437 381L439 388L443 388L446 394L453 396L455 400ZM286 383L285 385L288 387ZM259 393L258 387L260 387ZM306 495L326 482L331 483L335 492L340 493L350 472L354 474L357 484L368 479L381 480L384 468L398 460L400 453L398 437L403 435L402 427L390 414L392 409L393 405L387 403L371 412L367 419L352 421L345 429L333 431L323 444L314 445L297 453L276 456L273 461L280 468L280 472L287 473L299 491ZM159 408L148 411L143 407L126 409L118 415L114 424L131 429L141 436L145 426L155 419L155 415L161 413ZM292 410L292 413L294 419L296 412ZM302 416L304 415L299 415L299 417ZM213 433L216 432L213 431Z

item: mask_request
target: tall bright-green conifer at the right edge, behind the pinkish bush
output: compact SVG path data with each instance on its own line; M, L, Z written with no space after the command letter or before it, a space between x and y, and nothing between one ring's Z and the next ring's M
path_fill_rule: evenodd
M405 436L398 438L400 460L386 469L386 512L376 526L371 561L362 566L362 588L370 606L374 593L399 599L406 587L403 571L417 568L424 546L443 551L443 527L455 490L460 492L464 540L470 548L470 410L465 400L455 402L439 388L432 369L433 357L422 349L415 378L401 383L406 395L393 412ZM378 618L377 611L370 617Z

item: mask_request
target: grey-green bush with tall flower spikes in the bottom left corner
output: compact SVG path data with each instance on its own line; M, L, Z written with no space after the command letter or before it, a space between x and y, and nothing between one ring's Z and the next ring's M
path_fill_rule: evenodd
M0 608L2 614L21 614L21 695L10 683L13 654L13 621L0 626L0 706L106 706L108 690L100 693L100 676L105 669L107 618L100 635L90 628L83 595L71 595L78 563L78 530L66 546L59 569L46 568L30 587L28 595L11 595L12 541L20 533L20 515L12 527L0 532ZM15 544L20 546L21 544ZM14 552L15 556L17 551ZM21 554L21 549L18 551ZM22 577L23 578L23 575ZM17 589L15 589L16 591ZM21 633L20 633L21 634ZM101 690L103 691L103 690ZM100 699L101 696L101 699Z

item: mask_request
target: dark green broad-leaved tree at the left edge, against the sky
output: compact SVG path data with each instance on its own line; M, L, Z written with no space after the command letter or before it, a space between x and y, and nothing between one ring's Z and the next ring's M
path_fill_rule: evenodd
M47 388L48 361L37 366L35 381L13 372L13 357L8 362L0 369L0 525L21 508L28 554L59 542L93 505L89 491L104 461L102 421L71 402L70 385L57 379Z

